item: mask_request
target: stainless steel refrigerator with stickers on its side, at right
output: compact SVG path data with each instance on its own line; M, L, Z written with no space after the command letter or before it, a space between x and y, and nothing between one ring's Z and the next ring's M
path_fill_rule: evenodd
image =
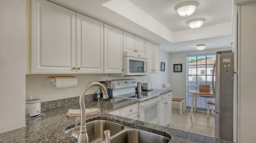
M212 114L215 114L215 137L233 141L233 83L236 76L234 53L216 52L213 74L215 67L215 87L213 87L215 110L212 110ZM212 85L214 86L214 83Z

